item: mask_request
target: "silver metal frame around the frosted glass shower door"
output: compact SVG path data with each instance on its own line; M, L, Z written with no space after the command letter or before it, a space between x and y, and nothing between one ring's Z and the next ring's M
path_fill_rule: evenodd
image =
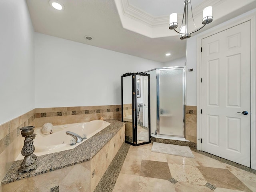
M160 114L159 114L159 107L160 107L160 77L159 72L161 70L183 70L183 134L182 136L175 136L175 135L164 135L160 134ZM186 66L175 66L175 67L164 67L164 68L155 68L152 70L148 70L146 72L150 72L156 70L156 136L164 136L164 137L175 137L175 138L185 138L185 106L186 106Z

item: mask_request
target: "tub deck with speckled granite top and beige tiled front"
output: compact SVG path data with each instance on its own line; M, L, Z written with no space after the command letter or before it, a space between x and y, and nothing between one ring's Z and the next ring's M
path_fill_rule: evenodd
M110 123L74 149L37 157L38 168L18 175L22 160L15 161L1 182L8 191L93 191L124 143L125 124Z

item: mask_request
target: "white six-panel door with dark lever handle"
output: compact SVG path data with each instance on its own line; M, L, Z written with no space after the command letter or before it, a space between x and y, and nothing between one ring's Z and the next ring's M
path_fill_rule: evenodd
M250 25L202 39L202 150L248 167Z

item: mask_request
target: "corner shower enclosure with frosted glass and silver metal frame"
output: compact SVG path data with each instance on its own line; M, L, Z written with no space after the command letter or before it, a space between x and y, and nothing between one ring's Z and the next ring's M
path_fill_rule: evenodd
M150 74L151 136L185 138L186 67L157 68Z

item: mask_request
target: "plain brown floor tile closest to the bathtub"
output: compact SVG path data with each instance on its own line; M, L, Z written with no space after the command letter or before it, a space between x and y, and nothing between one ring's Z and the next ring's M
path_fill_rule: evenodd
M168 180L172 176L167 162L142 160L140 176Z

